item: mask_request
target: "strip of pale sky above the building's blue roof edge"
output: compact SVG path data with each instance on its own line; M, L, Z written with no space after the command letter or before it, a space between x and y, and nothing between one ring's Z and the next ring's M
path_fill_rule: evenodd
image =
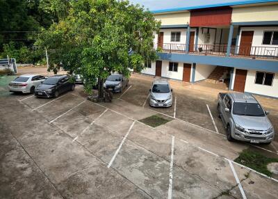
M227 3L234 1L246 1L246 0L129 0L132 3L139 3L149 10L161 10L168 8L182 8L190 6L200 6L206 4L215 3Z

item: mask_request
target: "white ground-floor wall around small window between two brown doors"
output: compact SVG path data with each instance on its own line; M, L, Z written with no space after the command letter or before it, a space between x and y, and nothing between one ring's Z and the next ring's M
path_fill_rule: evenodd
M169 71L169 61L162 61L161 77L167 77L171 79L183 79L183 63L179 62L178 71Z

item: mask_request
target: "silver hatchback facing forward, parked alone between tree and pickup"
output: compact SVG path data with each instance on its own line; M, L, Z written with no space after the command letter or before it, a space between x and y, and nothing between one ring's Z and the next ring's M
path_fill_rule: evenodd
M149 105L169 107L172 106L172 101L172 89L168 81L155 79L149 89Z

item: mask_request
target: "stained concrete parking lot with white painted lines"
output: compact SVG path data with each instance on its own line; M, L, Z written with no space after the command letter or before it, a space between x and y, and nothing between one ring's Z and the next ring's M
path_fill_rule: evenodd
M233 161L246 148L278 157L277 142L230 143L214 93L179 82L172 107L151 108L152 80L133 74L113 103L85 100L81 85L56 99L1 95L0 198L277 198L277 176ZM156 114L170 122L139 121Z

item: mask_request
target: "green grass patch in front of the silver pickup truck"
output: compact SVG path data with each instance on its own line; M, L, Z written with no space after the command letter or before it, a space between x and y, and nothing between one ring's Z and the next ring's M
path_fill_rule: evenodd
M278 159L265 157L263 154L260 154L259 152L254 152L250 149L247 149L243 150L243 152L240 152L239 157L237 157L234 161L236 161L239 164L243 164L244 166L253 168L259 173L271 176L272 173L268 170L267 166L272 162L278 162Z

